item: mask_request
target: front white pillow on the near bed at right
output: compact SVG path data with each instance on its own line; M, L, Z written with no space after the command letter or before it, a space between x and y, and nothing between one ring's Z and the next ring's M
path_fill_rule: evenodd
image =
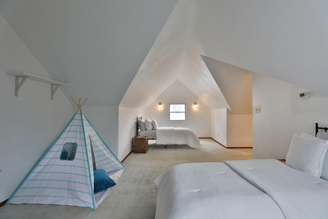
M327 144L317 139L294 134L286 156L286 165L320 177Z

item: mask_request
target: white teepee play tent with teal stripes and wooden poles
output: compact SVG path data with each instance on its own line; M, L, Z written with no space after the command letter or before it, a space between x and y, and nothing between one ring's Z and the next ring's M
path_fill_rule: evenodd
M80 99L74 103L78 110L71 121L6 204L72 205L95 210L110 188L94 193L93 171L104 169L117 181L124 166L82 112L84 103Z

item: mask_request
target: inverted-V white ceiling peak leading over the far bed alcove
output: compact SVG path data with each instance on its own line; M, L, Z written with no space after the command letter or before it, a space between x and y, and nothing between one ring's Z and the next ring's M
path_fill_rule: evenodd
M120 106L147 107L178 80L210 108L230 109L202 57L193 51L194 3L191 0L178 2Z

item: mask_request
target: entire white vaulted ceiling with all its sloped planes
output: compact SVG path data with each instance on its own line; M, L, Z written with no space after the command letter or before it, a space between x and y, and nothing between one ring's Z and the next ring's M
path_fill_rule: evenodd
M68 97L142 108L179 80L249 114L250 72L328 94L325 2L0 0L0 13Z

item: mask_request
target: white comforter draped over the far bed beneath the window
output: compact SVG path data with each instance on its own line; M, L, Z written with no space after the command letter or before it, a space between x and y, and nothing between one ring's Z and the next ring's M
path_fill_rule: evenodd
M198 149L199 143L199 138L189 128L158 127L156 129L157 145L188 145Z

